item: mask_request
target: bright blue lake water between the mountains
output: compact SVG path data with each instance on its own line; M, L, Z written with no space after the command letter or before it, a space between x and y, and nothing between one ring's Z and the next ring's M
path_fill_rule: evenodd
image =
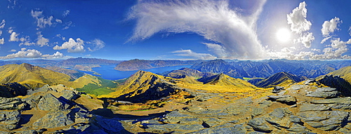
M128 78L132 74L137 71L117 71L114 69L115 65L102 65L101 67L93 67L93 71L98 72L101 75L95 75L93 72L85 72L86 74L92 74L94 76L102 76L102 79L110 79L110 80L117 80L117 79L124 79ZM161 67L161 68L154 68L154 69L143 69L143 71L152 72L154 74L163 73L166 71L172 71L175 69L180 69L182 67L190 67L190 65L181 65L181 66L173 66L173 67Z

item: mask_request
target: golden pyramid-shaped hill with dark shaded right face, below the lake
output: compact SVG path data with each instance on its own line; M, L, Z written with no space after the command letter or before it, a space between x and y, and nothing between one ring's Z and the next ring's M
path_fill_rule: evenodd
M164 98L179 91L181 89L165 76L138 71L121 84L116 92L105 95L105 97L115 96L118 97L117 100L146 102L147 100ZM100 97L102 98L104 95Z

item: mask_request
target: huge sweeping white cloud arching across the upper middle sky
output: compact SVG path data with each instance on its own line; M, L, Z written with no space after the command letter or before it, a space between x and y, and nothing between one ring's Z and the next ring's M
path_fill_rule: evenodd
M194 32L223 46L226 55L218 58L260 58L263 47L256 35L256 20L265 1L257 1L259 7L249 15L241 15L228 2L138 1L127 18L137 21L128 41L147 39L158 32Z

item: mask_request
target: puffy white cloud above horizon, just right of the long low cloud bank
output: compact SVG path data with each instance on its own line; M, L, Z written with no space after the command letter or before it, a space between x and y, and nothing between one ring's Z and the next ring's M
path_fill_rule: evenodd
M53 47L53 50L62 50L67 49L68 53L84 53L84 41L81 39L77 39L77 42L74 39L69 38L69 40L65 43L62 43L62 46L56 45Z

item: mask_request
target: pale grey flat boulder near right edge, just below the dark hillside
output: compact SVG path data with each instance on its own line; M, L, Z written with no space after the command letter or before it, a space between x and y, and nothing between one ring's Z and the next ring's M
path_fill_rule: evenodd
M336 98L340 93L336 88L317 88L316 91L307 93L306 96L314 98Z

